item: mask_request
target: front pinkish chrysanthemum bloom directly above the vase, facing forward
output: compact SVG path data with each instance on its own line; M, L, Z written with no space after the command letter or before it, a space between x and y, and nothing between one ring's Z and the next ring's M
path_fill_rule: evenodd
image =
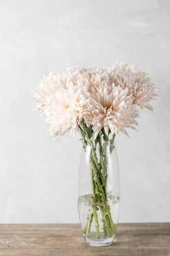
M97 137L102 128L108 134L110 129L112 134L118 135L122 131L126 135L126 127L134 129L137 125L136 117L138 112L133 98L128 95L128 88L122 89L120 86L108 86L106 82L91 88L91 98L88 106L88 115L85 117L87 125L92 125L93 139Z

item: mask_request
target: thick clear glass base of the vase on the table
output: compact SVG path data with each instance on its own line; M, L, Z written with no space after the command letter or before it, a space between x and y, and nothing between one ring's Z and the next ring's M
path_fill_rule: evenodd
M101 238L101 239L90 238L86 236L84 237L85 237L85 243L87 243L87 245L91 247L104 247L104 246L112 245L112 243L114 243L113 237Z

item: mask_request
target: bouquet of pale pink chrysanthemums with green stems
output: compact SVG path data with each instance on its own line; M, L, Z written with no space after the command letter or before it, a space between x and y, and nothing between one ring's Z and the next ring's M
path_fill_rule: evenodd
M36 109L46 116L50 135L74 135L76 131L81 135L91 181L91 193L83 197L88 197L89 209L81 224L85 238L103 241L96 246L110 244L116 232L110 198L119 201L119 197L108 185L114 139L120 131L128 135L128 127L136 129L139 110L153 110L149 102L155 96L157 90L147 74L125 64L52 72L34 90Z

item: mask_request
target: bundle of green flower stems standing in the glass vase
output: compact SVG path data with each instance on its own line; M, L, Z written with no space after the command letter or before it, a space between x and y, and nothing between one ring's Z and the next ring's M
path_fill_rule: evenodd
M87 127L82 120L79 124L79 133L83 142L83 148L86 150L87 146L91 147L90 154L90 172L91 172L91 210L87 216L87 223L83 228L83 233L89 236L91 232L91 224L95 222L96 238L100 238L100 227L97 211L101 212L103 222L103 233L105 236L112 237L116 232L116 224L112 219L110 205L107 199L107 148L109 147L110 154L114 150L114 138L109 139L110 131L105 133L104 129L99 132L95 141L91 140L92 129ZM97 158L97 150L99 150L99 159Z

